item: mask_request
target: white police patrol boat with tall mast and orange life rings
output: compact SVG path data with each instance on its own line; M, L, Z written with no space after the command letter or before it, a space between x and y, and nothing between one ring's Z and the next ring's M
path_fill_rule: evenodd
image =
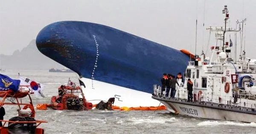
M245 19L237 21L239 28L232 29L227 27L227 6L224 6L222 14L223 27L207 28L209 33L215 33L216 39L215 46L210 47L211 58L204 56L188 63L184 84L176 86L175 98L170 98L170 95L165 97L166 89L161 94L161 87L157 85L154 85L152 98L159 100L175 114L214 120L256 122L256 60L245 58L245 50L242 48ZM227 33L232 32L241 34L239 59L236 59L236 49L232 49L231 39L227 39ZM231 50L235 53L231 53ZM188 101L189 78L193 82L192 102Z

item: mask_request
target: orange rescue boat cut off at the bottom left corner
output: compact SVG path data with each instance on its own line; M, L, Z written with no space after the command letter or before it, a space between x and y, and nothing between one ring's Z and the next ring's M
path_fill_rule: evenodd
M38 128L38 126L41 123L47 123L47 121L35 120L35 109L30 94L33 92L22 91L22 88L17 92L12 89L0 91L0 98L3 98L0 101L0 108L16 105L19 114L9 120L0 120L3 123L3 126L0 127L0 134L44 134L44 129ZM29 97L29 99L24 100L25 97ZM8 100L9 102L6 102ZM5 126L6 123L8 126Z

